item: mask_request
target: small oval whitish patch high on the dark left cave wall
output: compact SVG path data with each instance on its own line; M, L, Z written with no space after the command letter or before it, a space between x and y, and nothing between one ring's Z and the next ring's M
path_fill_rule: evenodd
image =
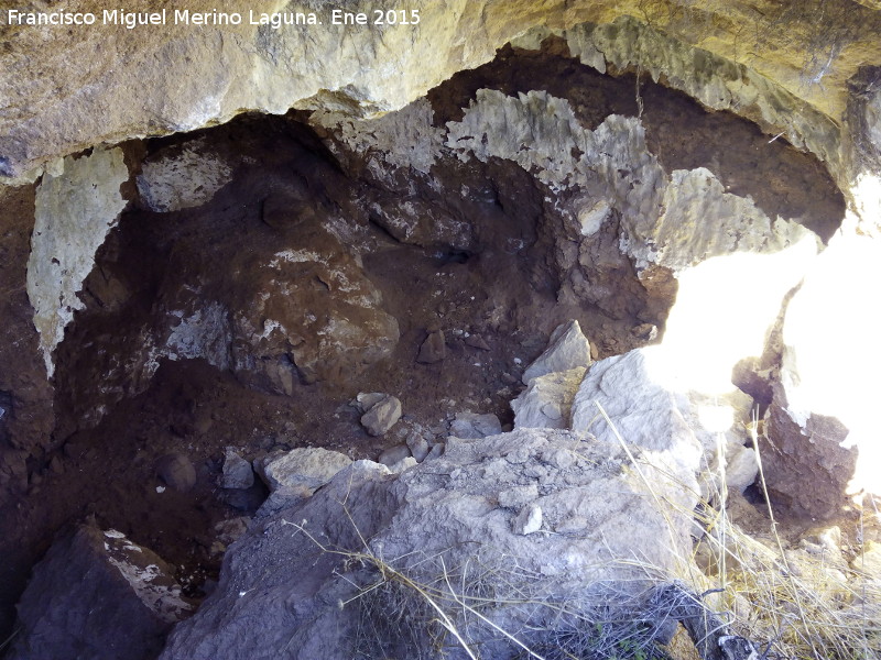
M144 162L138 191L154 211L180 211L210 201L231 174L226 161L204 147L204 140L193 141Z

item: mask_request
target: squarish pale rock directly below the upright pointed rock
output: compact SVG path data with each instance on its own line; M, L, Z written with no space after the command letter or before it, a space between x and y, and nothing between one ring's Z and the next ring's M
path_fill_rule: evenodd
M531 378L529 387L511 402L514 428L569 428L572 404L586 371L577 366Z

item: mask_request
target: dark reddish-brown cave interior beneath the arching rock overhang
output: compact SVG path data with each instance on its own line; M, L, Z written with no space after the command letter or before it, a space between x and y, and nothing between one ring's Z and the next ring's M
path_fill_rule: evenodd
M493 147L510 138L514 152L532 148L503 123L482 141L463 123L469 109L486 107L489 122L499 103L545 102L527 97L536 90L564 99L584 131L606 130L610 116L638 121L644 133L603 143L638 157L577 143L547 170L607 158L606 178L542 178L534 161ZM2 522L17 572L7 610L53 534L83 517L155 550L203 597L222 559L218 524L253 515L268 494L259 481L218 485L227 448L248 461L296 447L377 459L414 435L440 443L458 413L508 429L523 370L561 323L579 322L595 360L661 341L678 266L621 248L632 222L621 199L632 217L650 212L646 172L706 169L718 195L823 242L844 217L823 166L785 140L637 72L599 74L554 40L541 52L507 46L420 103L431 122L415 136L387 118L393 157L363 125L304 111L122 145L128 207L54 353L52 446L29 457L28 496ZM482 157L452 139L437 146L432 131L450 123L465 127L461 143L483 143ZM616 143L633 135L643 142ZM402 164L426 144L429 165ZM379 437L350 405L373 392L403 409ZM170 455L185 457L192 480L160 474Z

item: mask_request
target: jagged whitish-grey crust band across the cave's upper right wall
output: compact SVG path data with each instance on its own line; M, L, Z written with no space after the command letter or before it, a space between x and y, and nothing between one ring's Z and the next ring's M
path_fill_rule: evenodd
M621 251L640 270L657 264L678 272L733 252L773 253L811 235L796 222L768 218L750 198L725 193L706 168L667 175L637 118L611 114L590 131L567 100L546 91L513 98L480 89L463 121L447 128L446 146L464 161L505 158L552 190L578 188L608 200L621 213ZM574 221L590 235L608 212L576 209Z

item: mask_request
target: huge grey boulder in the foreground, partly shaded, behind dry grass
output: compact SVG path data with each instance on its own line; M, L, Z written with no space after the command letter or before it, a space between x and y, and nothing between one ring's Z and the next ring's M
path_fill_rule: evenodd
M475 601L481 615L539 646L525 624L551 625L555 604L587 612L602 585L632 595L646 570L687 569L694 494L642 470L673 506L656 508L619 447L569 431L450 439L396 477L358 461L233 543L217 591L161 658L422 657L436 641L455 656L444 617L481 656L513 658L522 649L456 596L493 594Z

